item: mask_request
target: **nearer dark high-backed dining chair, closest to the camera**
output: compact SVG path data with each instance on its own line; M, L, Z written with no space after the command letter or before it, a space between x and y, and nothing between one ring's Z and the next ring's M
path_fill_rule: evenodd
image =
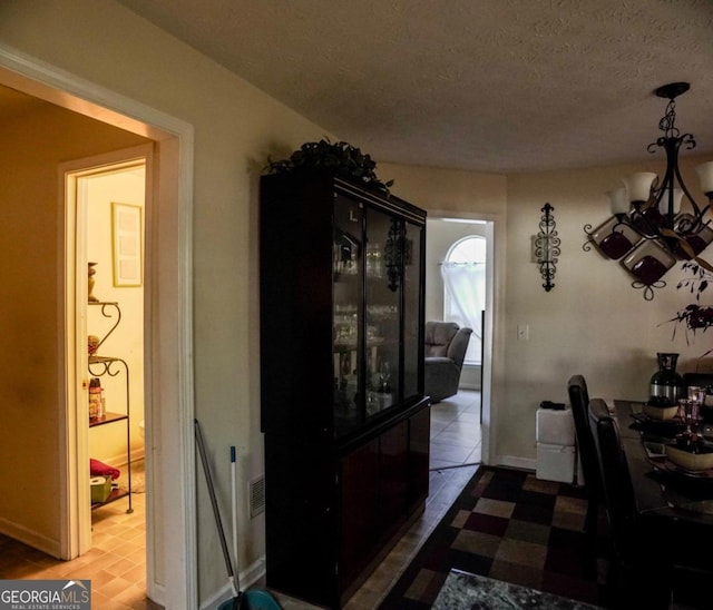
M592 399L588 414L612 539L607 584L613 601L618 608L667 609L673 579L668 532L665 527L651 527L637 515L619 429L606 403Z

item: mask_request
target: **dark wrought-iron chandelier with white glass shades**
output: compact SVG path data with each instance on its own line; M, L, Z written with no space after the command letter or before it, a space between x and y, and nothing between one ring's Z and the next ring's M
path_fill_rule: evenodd
M612 217L593 229L584 227L588 238L583 246L593 245L605 257L619 260L634 277L632 286L644 289L644 298L654 297L654 288L666 285L662 279L677 260L696 260L713 270L699 255L713 243L713 227L709 211L713 201L713 161L696 167L701 188L707 203L699 205L678 169L678 151L695 148L692 134L681 134L676 127L676 97L690 89L687 82L672 82L655 90L668 100L666 112L658 122L663 132L648 145L648 152L663 148L666 170L663 177L638 171L624 178L624 185L607 193Z

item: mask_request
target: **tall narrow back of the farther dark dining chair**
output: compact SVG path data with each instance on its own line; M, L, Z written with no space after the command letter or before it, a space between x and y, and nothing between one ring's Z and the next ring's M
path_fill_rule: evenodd
M587 492L587 516L584 530L589 540L596 540L597 518L602 503L602 474L597 462L597 451L594 446L594 437L589 429L587 409L589 406L589 393L587 383L582 375L573 375L567 382L572 415L575 421L575 435L577 437L577 451L582 472L584 473L585 491Z

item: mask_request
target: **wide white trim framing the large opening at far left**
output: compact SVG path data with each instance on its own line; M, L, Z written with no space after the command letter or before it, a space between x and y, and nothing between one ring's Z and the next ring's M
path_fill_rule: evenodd
M146 312L149 329L146 353L153 360L153 366L146 371L146 395L156 415L150 450L160 453L160 463L153 473L153 486L163 506L163 520L155 523L157 544L147 587L149 597L166 608L192 610L198 599L193 442L193 126L3 45L0 45L0 85L156 141L159 164L150 195L160 223L154 223L153 234L146 235L147 246L152 243L154 253L146 262L147 302L154 304ZM62 230L62 245L64 239ZM58 265L61 284L66 285L64 260ZM64 295L59 302L65 308ZM58 366L62 380L68 364L66 314L66 311L58 313L61 346ZM66 387L60 387L58 400L58 404L66 403ZM66 415L62 420L59 442L64 446L61 454L67 457L58 475L66 488L70 422ZM71 506L67 499L65 504L67 515Z

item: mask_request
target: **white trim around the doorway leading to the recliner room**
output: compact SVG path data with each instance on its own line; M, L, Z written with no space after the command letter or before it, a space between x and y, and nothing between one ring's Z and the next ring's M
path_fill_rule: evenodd
M485 222L486 224L486 314L482 329L482 387L480 388L482 397L482 450L481 460L484 464L491 464L496 461L495 439L497 439L497 390L494 384L495 372L497 372L497 355L502 350L497 348L498 334L496 333L496 322L498 317L497 307L504 299L499 297L498 289L502 285L497 282L497 273L499 268L497 260L502 260L502 255L497 247L498 244L505 244L505 239L497 239L496 236L504 230L505 223L499 215L476 214L463 211L448 210L429 210L429 220L439 220L443 218L455 218L472 222ZM428 237L427 237L428 238Z

